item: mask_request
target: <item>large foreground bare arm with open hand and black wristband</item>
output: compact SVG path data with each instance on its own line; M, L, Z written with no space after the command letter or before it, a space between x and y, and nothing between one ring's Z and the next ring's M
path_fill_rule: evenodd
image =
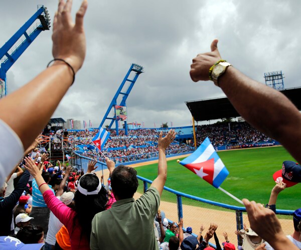
M66 3L59 1L53 23L52 54L54 58L68 62L76 73L86 53L83 17L87 1L84 0L77 11L75 23L71 17L71 5L71 0ZM17 133L24 148L47 124L72 80L71 67L63 61L54 61L29 83L0 100L0 119Z

